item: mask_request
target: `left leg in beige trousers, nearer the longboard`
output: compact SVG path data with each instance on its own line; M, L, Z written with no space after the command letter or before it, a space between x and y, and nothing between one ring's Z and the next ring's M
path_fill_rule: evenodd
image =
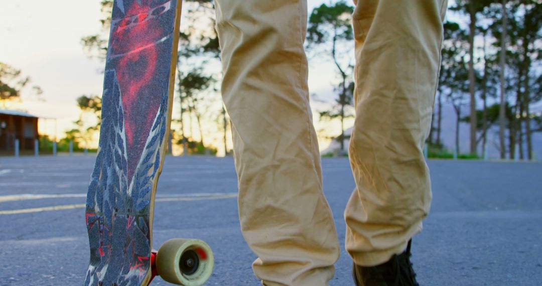
M265 285L327 285L339 244L308 101L306 0L217 0L244 238Z

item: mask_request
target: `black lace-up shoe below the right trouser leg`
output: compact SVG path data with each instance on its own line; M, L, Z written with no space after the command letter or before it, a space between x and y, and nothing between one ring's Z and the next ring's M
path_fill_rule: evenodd
M410 262L411 241L403 253L393 255L388 262L371 267L354 264L354 283L357 286L419 286Z

